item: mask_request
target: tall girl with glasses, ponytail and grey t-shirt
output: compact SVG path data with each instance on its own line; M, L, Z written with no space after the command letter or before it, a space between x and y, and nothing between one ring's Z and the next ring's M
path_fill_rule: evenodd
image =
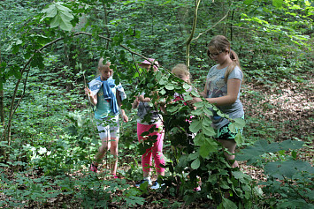
M244 118L243 106L240 101L240 89L243 74L238 56L230 48L230 42L223 35L214 36L208 45L207 55L217 65L208 72L203 97L211 104L215 104L222 113L230 118ZM194 98L191 103L202 101ZM236 143L235 133L228 128L229 121L217 115L214 111L211 116L212 126L217 131L216 138L230 153L234 153ZM240 130L241 131L241 130ZM225 153L228 160L234 160L234 155ZM238 167L234 161L233 168Z

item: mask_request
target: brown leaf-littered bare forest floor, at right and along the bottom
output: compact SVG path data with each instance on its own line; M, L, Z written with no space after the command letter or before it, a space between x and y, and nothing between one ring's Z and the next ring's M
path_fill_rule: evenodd
M264 138L270 141L283 141L286 139L298 139L306 142L307 146L298 152L298 158L307 160L313 165L313 78L308 83L281 82L278 86L265 86L258 83L248 83L243 86L241 101L245 107L248 120L247 141L250 138ZM258 130L258 131L257 131ZM265 181L263 170L246 165L245 161L240 162L241 170L250 175L257 182ZM80 174L75 174L80 175ZM123 176L120 176L123 178ZM126 181L134 184L133 181ZM115 195L120 195L117 191ZM2 195L0 194L0 200ZM73 196L59 195L51 198L45 205L38 203L28 204L27 208L82 208L80 203L73 204ZM149 190L149 193L142 195L145 198L144 205L136 206L141 208L163 208L163 199L169 204L180 203L177 208L202 208L200 202L192 205L184 205L182 198L173 197L169 192ZM121 203L111 203L109 208L120 208ZM211 205L211 202L208 202ZM1 207L0 207L1 208ZM215 207L213 207L215 208Z

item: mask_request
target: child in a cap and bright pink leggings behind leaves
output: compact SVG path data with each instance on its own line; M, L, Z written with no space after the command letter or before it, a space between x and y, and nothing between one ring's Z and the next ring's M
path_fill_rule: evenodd
M150 62L149 62L150 61ZM157 71L157 61L154 59L149 59L149 61L143 61L140 66L142 68L150 70L151 63L154 63L153 69ZM151 189L158 189L160 186L157 181L151 183L150 180L150 167L151 167L151 157L153 155L155 160L155 168L157 170L157 176L165 175L165 168L161 168L160 164L165 165L165 160L163 158L163 144L164 144L164 135L165 131L163 128L163 117L150 107L149 103L151 102L149 97L145 97L144 93L138 96L132 105L132 108L138 108L137 116L137 137L139 142L148 139L151 136L157 136L157 141L153 144L152 147L149 147L144 154L142 154L142 172L143 179L140 183L136 183L136 186L140 186L142 183L148 182L151 186ZM149 123L145 121L144 117L150 115ZM156 128L158 131L149 133L149 136L142 136L142 133L149 131L151 128Z

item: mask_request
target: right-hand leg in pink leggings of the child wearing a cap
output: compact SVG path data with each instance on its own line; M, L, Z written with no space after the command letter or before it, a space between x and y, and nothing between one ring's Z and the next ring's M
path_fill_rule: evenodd
M157 123L156 127L159 128L162 126L162 123ZM157 175L165 175L165 168L161 168L160 164L165 165L165 159L163 155L163 146L164 146L164 137L165 130L156 131L153 133L157 135L157 142L154 143L152 148L153 157L155 160L155 167L157 170Z

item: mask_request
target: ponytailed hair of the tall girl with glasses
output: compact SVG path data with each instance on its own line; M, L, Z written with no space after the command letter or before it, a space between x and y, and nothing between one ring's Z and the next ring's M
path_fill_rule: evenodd
M234 71L235 66L238 66L241 70L241 65L239 61L238 55L234 52L233 49L230 47L230 41L227 40L227 38L224 35L216 35L211 39L211 42L208 44L208 48L213 47L217 49L218 51L229 51L229 56L231 60L233 61L232 64L228 66L225 73L225 81L227 81L230 73ZM210 50L207 49L207 55L210 56Z

